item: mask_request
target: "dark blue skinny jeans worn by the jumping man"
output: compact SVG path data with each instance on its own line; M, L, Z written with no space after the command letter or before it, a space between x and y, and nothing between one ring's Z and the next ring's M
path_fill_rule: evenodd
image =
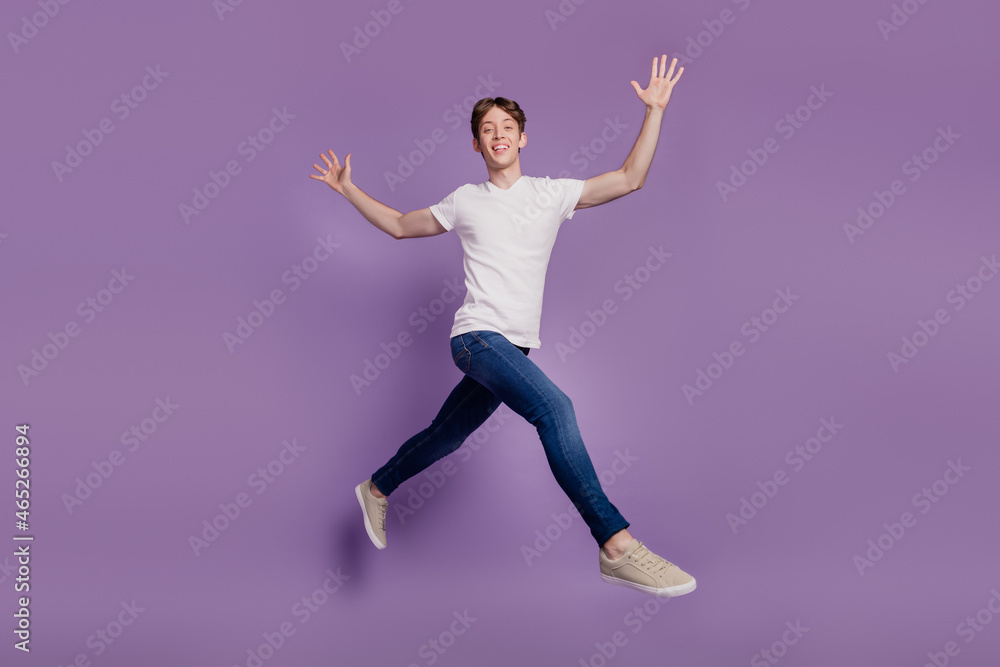
M470 331L451 339L451 356L465 377L431 425L403 443L372 475L372 483L382 493L388 496L405 480L458 449L500 403L506 403L538 430L556 482L598 545L628 527L601 488L572 402L528 359L528 348L515 346L496 331Z

